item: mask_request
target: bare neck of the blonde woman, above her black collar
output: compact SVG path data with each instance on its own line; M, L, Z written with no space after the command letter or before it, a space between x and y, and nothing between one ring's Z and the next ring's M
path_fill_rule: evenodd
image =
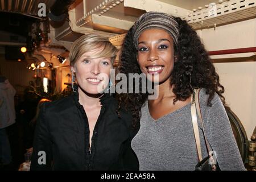
M78 89L79 93L79 103L83 105L84 107L97 107L101 105L100 97L102 94L89 94Z

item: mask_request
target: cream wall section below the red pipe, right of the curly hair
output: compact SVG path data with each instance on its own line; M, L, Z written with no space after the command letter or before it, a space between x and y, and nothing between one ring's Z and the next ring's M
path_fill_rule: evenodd
M256 62L215 63L227 104L240 118L248 139L256 126Z

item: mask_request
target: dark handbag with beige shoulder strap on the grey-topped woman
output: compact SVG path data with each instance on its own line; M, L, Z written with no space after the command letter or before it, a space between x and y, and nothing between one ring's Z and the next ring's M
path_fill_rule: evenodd
M205 137L203 118L200 110L199 92L200 92L200 89L194 90L193 95L191 97L191 117L192 117L192 124L193 124L193 132L196 140L197 156L199 160L199 162L196 164L195 171L220 171L220 167L218 166L217 161L216 161L216 164L214 164L214 161L213 161L214 153L212 153L212 156L209 155L210 147L209 147L209 142ZM201 144L200 144L196 113L199 115L200 123L203 129L205 144L207 146L208 156L204 159L202 158L202 153L201 153ZM212 164L210 163L209 159L211 159Z

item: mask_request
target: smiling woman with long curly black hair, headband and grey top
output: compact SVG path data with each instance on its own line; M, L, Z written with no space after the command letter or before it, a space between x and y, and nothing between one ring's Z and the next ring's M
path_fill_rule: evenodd
M118 96L119 105L131 110L134 125L140 125L131 142L140 170L195 170L201 161L198 151L203 158L208 156L206 141L221 170L245 169L224 109L224 87L199 36L185 20L164 13L143 14L127 32L118 71L126 76L152 75L158 90L155 100L148 100L148 93ZM200 88L199 148L191 106L195 89Z

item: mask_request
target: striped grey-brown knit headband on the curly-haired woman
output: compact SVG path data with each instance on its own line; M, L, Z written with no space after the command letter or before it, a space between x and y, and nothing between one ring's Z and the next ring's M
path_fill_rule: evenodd
M138 49L138 39L141 33L148 28L162 28L171 34L174 44L179 38L179 24L176 19L166 13L150 11L141 15L133 26L133 45Z

